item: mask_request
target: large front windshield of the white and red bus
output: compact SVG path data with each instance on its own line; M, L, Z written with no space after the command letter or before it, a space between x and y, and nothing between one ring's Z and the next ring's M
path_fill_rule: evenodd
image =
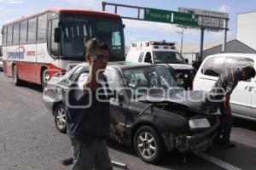
M61 56L84 60L84 41L97 37L109 48L109 61L125 60L122 21L104 17L66 16L61 20Z

